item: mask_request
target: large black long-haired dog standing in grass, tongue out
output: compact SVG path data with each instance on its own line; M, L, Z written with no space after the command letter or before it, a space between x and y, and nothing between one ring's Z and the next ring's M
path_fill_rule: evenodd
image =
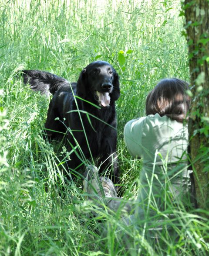
M92 62L81 71L77 83L39 70L23 73L24 83L32 90L54 95L45 132L49 140L67 132L68 168L74 171L81 163L87 164L87 159L99 159L100 172L112 169L111 179L118 182L115 100L120 97L120 87L115 69L108 62Z

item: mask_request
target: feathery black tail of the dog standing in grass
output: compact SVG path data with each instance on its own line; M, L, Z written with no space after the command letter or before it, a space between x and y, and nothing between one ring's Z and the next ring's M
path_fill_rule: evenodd
M24 83L30 84L31 90L40 91L47 96L58 90L63 84L69 83L62 77L40 70L23 70Z

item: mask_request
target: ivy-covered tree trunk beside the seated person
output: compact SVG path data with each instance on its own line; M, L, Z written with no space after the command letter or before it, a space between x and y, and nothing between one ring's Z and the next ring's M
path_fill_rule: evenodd
M189 133L199 208L209 210L209 1L185 0L192 104Z

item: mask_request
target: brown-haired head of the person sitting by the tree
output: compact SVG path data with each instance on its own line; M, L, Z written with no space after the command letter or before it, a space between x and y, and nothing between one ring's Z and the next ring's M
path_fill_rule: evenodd
M177 78L161 80L148 94L146 100L146 114L168 116L182 122L188 119L187 112L191 98L186 94L189 83Z

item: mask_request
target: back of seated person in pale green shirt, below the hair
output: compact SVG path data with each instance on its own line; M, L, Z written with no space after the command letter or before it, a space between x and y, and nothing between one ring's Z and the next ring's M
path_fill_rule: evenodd
M168 190L173 199L188 190L188 128L167 116L151 114L129 121L124 128L125 144L135 158L143 159L138 202L144 210L155 197L155 207L164 209Z

